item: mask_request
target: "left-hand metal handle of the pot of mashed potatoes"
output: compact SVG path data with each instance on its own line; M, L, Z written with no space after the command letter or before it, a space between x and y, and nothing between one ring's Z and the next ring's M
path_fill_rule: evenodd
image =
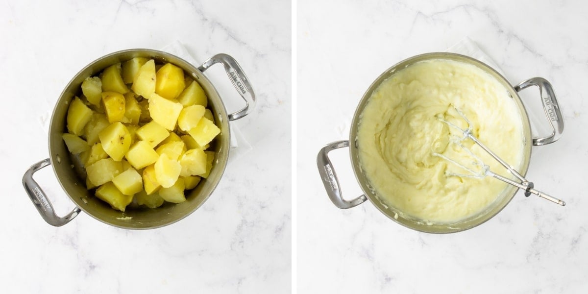
M360 205L368 200L368 198L366 195L361 195L358 198L347 201L341 195L339 179L337 179L337 174L335 173L335 169L333 169L333 164L330 162L328 155L330 151L343 147L349 147L349 141L337 141L325 145L320 149L318 156L316 156L316 166L319 168L320 178L323 180L325 190L333 204L340 209L348 209Z

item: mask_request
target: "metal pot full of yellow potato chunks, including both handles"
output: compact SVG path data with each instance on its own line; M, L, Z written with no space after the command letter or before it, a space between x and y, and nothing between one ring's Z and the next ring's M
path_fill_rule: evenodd
M203 74L217 63L245 101L235 113ZM196 67L162 51L114 52L65 87L51 117L49 158L25 172L23 186L53 226L81 211L125 229L169 225L212 194L229 156L229 122L254 106L249 79L229 55ZM49 165L76 206L65 216L33 179Z

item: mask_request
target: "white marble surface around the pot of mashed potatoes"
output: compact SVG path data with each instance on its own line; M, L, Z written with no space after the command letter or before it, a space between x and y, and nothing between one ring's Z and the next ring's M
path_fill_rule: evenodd
M298 1L299 293L588 292L587 11L578 1ZM567 206L519 192L489 222L450 235L406 229L371 203L335 208L316 170L320 147L348 139L386 68L466 36L512 83L552 82L566 129L533 149L527 175ZM536 89L523 97L539 105ZM358 196L348 149L331 154L343 194Z

